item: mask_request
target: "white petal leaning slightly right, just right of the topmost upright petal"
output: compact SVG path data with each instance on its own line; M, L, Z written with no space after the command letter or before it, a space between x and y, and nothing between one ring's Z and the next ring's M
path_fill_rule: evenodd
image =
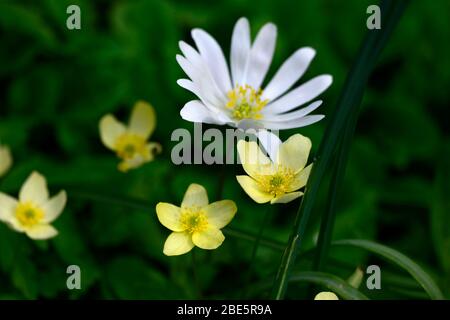
M247 63L245 83L258 89L269 70L275 51L277 38L277 27L273 23L265 24L256 36L255 42L250 49Z

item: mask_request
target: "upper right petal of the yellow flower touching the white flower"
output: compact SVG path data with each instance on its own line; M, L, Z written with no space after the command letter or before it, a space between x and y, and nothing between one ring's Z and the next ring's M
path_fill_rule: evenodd
M278 149L277 163L298 172L308 161L311 140L301 134L294 134Z

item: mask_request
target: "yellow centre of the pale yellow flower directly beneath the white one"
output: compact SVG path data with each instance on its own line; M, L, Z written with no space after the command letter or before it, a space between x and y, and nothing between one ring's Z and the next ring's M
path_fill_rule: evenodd
M288 192L294 176L293 170L279 166L275 174L259 175L256 180L265 192L279 197Z

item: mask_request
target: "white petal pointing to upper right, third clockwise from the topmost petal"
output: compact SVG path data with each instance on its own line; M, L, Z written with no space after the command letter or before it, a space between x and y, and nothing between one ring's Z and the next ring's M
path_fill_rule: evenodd
M309 47L294 52L264 89L264 99L274 100L289 90L308 69L315 54L316 51Z

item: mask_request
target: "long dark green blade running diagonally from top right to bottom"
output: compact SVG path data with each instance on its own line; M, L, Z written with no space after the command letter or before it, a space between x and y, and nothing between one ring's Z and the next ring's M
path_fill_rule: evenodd
M301 244L301 236L304 234L309 222L322 178L335 151L338 139L343 134L350 115L358 111L370 72L407 2L403 0L382 1L381 14L386 17L384 24L380 30L369 30L356 62L347 77L340 99L330 117L330 123L325 131L324 139L319 146L317 159L297 212L289 244L281 259L272 292L272 297L275 299L284 297L289 273L292 270Z

